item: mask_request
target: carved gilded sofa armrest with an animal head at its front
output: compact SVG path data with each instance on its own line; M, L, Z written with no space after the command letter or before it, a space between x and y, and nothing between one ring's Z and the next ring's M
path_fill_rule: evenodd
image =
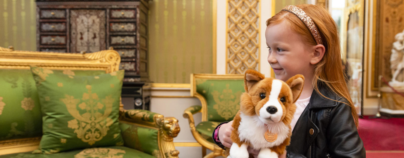
M175 150L173 138L177 137L180 128L174 117L150 112L148 110L121 110L120 120L157 128L159 131L160 150L164 158L178 158L179 151Z

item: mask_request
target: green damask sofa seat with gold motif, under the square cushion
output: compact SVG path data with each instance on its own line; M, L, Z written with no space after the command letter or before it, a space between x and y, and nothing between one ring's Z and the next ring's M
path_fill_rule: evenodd
M0 158L156 158L139 150L124 146L94 147L51 155L32 152L2 155Z

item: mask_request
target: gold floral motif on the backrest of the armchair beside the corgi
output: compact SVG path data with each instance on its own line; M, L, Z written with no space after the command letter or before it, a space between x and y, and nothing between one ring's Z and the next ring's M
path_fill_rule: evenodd
M222 93L218 91L212 92L213 99L216 102L213 109L217 110L219 116L226 120L233 118L234 114L240 110L240 96L242 93L241 91L233 93L229 86L229 84L226 84L226 89L223 89Z

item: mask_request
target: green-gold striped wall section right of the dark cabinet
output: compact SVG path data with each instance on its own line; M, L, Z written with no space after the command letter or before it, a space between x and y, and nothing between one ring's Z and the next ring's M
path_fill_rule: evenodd
M213 0L149 3L149 78L189 83L191 73L212 73Z

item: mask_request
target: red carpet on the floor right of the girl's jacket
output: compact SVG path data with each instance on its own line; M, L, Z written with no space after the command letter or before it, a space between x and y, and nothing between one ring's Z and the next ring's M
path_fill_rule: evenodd
M404 118L370 119L365 116L359 119L358 133L366 151L404 150Z

